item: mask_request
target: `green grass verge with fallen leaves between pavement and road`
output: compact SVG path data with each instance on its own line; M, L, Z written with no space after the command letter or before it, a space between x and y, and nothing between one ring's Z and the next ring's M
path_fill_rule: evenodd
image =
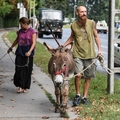
M15 39L15 31L7 34L7 38L12 43ZM50 53L44 46L37 42L34 63L41 67L42 71L47 73L47 65ZM81 94L83 90L81 83ZM114 80L114 94L107 93L107 76L97 72L96 78L91 80L91 86L88 94L89 105L80 104L73 107L73 111L79 115L79 120L120 120L120 81ZM48 94L48 93L46 93ZM74 79L70 81L69 98L72 100L75 95ZM50 95L48 97L52 100ZM54 103L54 102L53 102Z

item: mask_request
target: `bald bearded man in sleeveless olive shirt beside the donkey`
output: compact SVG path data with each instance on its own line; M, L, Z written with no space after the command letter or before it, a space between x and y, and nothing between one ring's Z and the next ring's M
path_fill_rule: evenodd
M73 42L73 57L75 62L75 88L76 95L73 105L77 106L80 102L88 105L88 90L91 78L95 77L96 64L92 64L84 73L82 69L88 67L96 58L95 42L98 48L98 54L102 54L100 38L98 36L95 22L87 18L87 9L79 6L76 10L77 20L71 25L71 35L63 44L66 46ZM81 77L84 75L83 95L80 94Z

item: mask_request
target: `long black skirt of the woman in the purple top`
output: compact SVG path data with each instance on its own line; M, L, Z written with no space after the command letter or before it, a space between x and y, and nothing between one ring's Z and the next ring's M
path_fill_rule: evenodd
M30 89L33 57L16 56L14 85L22 89Z

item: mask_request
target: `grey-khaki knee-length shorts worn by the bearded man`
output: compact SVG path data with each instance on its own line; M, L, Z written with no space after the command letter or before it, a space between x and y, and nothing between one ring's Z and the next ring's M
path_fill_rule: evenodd
M75 74L81 73L85 68L87 68L95 59L80 59L74 58L75 63ZM94 78L96 75L96 63L93 63L88 69L83 73L84 78Z

